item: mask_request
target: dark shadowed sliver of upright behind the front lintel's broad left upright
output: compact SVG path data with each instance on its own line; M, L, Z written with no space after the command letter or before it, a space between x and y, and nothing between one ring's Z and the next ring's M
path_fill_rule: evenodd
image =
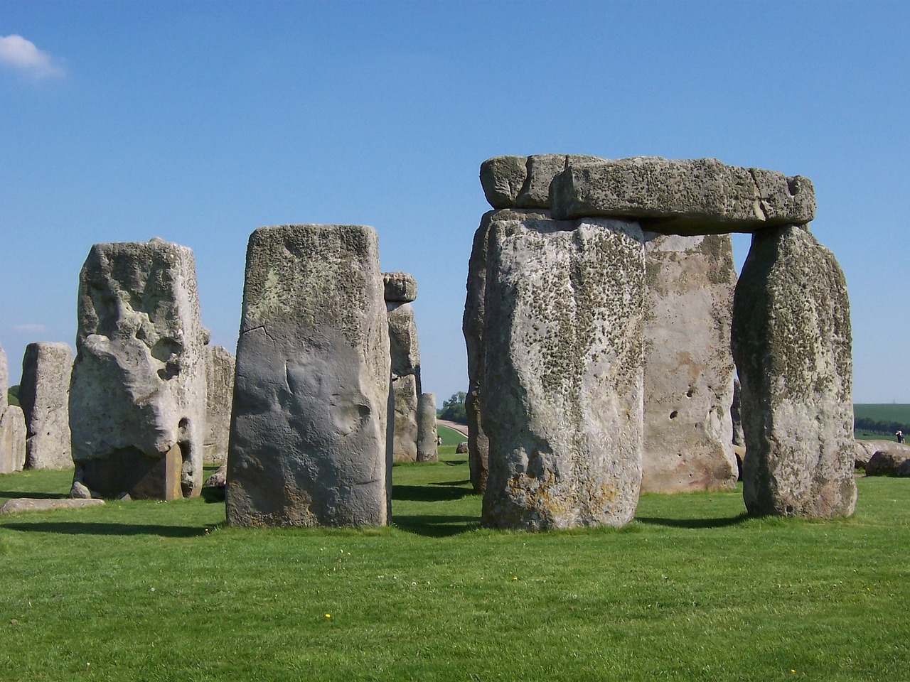
M497 157L497 158L514 158ZM489 163L489 162L488 162ZM482 176L481 166L481 176ZM464 399L464 411L468 419L468 466L470 485L475 492L482 493L487 487L487 473L490 441L483 431L481 420L481 392L483 386L483 319L484 296L487 283L487 236L494 216L512 216L509 212L490 211L480 220L480 227L474 233L474 244L468 262L468 295L461 319L465 346L468 348L468 394ZM531 216L531 214L527 214ZM543 217L543 215L540 215ZM514 219L520 220L520 217Z

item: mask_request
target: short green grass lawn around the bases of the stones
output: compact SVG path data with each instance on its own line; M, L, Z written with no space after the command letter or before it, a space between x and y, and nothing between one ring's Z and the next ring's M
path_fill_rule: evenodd
M224 527L224 504L2 517L4 680L904 680L910 481L854 518L642 496L622 530L477 527L464 456L396 466L394 527ZM0 501L68 472L0 476Z

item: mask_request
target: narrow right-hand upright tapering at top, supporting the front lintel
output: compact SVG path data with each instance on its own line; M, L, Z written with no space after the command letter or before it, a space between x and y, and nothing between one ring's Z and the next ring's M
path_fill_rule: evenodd
M834 256L800 226L753 235L733 303L752 514L854 511L850 304Z

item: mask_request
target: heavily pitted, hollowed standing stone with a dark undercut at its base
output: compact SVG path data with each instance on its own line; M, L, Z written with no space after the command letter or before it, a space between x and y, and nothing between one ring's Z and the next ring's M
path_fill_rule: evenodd
M206 342L187 246L92 246L69 395L75 482L106 497L199 494Z

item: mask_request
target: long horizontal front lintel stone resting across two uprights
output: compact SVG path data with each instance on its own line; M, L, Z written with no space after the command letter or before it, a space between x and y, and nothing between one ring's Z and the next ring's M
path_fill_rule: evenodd
M804 225L815 216L808 178L713 158L632 156L569 165L553 178L550 202L554 218L636 219L644 229L677 235L755 232Z

